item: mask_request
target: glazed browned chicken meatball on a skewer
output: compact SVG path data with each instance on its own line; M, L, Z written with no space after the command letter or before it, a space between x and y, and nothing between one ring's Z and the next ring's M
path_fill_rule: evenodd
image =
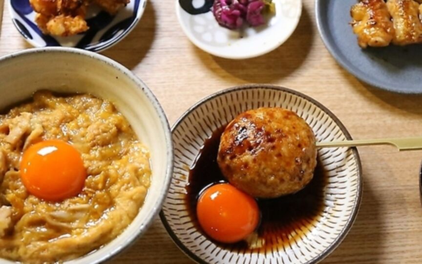
M276 198L311 181L317 165L315 141L305 120L290 110L249 110L226 127L217 161L238 189L257 198Z

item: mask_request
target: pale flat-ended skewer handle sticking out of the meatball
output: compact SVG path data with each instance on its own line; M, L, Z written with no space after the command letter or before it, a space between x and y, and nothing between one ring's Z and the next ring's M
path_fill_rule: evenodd
M422 150L422 137L317 142L317 148L358 147L372 145L392 145L397 147L399 151Z

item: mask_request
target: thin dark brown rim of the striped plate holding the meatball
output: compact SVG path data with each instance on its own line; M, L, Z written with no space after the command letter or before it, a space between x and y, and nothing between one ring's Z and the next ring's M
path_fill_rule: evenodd
M303 94L301 92L298 92L294 89L291 88L286 88L283 86L276 86L276 85L268 85L268 84L251 84L251 85L240 85L240 86L235 86L235 87L231 87L231 88L227 88L221 91L217 91L209 96L204 97L203 99L201 99L199 102L195 103L193 106L191 106L188 110L186 110L182 116L180 116L177 121L173 124L173 126L171 127L171 132L174 132L174 130L185 120L185 118L187 118L190 113L193 110L196 110L198 107L200 107L202 104L216 98L219 97L221 95L227 94L227 93L231 93L231 92L236 92L236 91L240 91L240 90L253 90L253 89L269 89L269 90L277 90L277 91L283 91L283 92L287 92L287 93L291 93L294 94L296 96L302 97L305 100L310 101L311 103L315 104L318 108L320 108L321 110L323 110L326 114L328 114L333 121L338 125L338 127L340 128L341 132L344 133L344 135L346 136L346 138L348 140L352 140L352 136L350 135L350 133L347 131L346 127L343 125L343 123L341 123L341 121L338 119L338 117L328 108L326 108L325 106L323 106L321 103L319 103L317 100L313 99L312 97ZM174 144L173 144L174 145ZM357 173L358 173L358 190L357 190L357 199L355 200L355 204L354 204L354 212L351 215L351 218L348 220L348 222L346 223L345 227L343 228L343 231L338 235L338 237L334 240L334 242L327 247L324 251L322 251L317 258L310 260L308 262L306 262L306 264L315 264L318 263L320 261L322 261L323 259L325 259L328 255L330 255L339 245L340 243L344 240L344 238L347 236L347 234L349 233L351 227L353 226L356 217L358 216L359 213L359 208L360 208L360 203L361 203L361 199L362 199L362 190L363 190L363 177L362 177L362 164L360 161L360 157L359 157L359 152L358 149L356 147L351 148L353 151L353 155L354 158L356 159L356 163L357 163ZM174 160L173 160L174 162ZM169 222L166 219L166 216L164 215L164 211L161 210L160 212L160 219L161 222L163 223L164 227L166 228L167 233L169 234L170 238L173 240L173 242L177 245L177 247L183 252L185 253L185 255L187 255L191 260L195 261L196 263L199 264L207 264L206 261L202 260L201 258L199 258L198 256L196 256L194 253L192 253L188 247L186 247L184 245L183 242L181 242L176 234L173 232L173 230L171 229Z

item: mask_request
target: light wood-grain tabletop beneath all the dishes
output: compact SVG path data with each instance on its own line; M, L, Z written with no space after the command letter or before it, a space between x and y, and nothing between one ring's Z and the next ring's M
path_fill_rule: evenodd
M13 26L7 3L4 8L0 55L30 47ZM319 38L314 11L314 0L304 0L299 25L285 44L255 59L232 61L213 57L190 43L177 22L173 0L150 0L132 33L103 54L145 81L170 124L213 92L269 83L315 98L338 116L355 139L422 135L422 96L382 91L343 70ZM359 215L346 239L323 263L422 263L418 189L422 153L379 146L359 147L359 154L364 181ZM157 218L112 263L191 261Z

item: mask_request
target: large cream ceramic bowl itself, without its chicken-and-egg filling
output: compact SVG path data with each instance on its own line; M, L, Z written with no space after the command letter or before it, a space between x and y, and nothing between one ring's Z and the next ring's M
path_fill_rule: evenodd
M127 118L151 154L151 186L145 203L120 236L95 252L66 263L101 263L132 244L158 214L168 192L173 165L169 124L148 87L124 66L75 48L27 49L2 57L0 80L0 109L29 98L36 90L48 88L87 92L108 99ZM0 260L0 263L15 262Z

